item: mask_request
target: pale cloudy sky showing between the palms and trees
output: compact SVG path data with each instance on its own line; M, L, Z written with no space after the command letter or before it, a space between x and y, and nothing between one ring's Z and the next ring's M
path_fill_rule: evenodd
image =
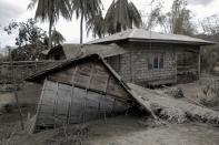
M143 21L147 20L147 15L150 13L150 1L151 0L130 0L136 7L139 9L141 13L143 13ZM158 1L158 0L157 0ZM170 10L173 0L163 0L163 12ZM27 10L28 3L30 0L0 0L0 52L1 49L6 45L14 45L16 33L12 35L8 35L3 28L10 23L11 21L26 21L29 18L34 17L34 10ZM112 0L102 0L106 13ZM198 20L203 19L205 17L209 17L216 13L219 13L219 0L187 0L188 9L192 12L192 21L198 22ZM155 7L155 4L153 4ZM39 27L43 30L48 30L48 23L39 23ZM60 19L58 23L56 23L56 29L60 31L67 43L79 43L80 32L80 21L72 19L71 21L66 21ZM91 35L86 34L84 31L84 42L93 40Z

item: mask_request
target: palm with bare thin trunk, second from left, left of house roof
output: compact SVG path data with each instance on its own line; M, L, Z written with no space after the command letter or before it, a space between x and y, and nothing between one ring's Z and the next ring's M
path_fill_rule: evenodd
M83 42L83 20L91 20L101 13L101 0L72 0L72 12L80 17L80 43Z

